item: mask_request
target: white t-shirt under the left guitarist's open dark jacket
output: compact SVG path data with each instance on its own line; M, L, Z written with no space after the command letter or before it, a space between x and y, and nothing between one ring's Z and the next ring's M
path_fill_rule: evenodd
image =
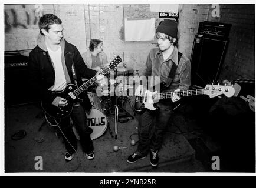
M63 65L61 62L61 47L58 48L57 51L51 51L51 49L49 48L47 48L47 50L50 55L51 61L54 65L54 72L55 72L55 82L51 90L52 91L64 90L65 86L67 85L67 80L65 79Z

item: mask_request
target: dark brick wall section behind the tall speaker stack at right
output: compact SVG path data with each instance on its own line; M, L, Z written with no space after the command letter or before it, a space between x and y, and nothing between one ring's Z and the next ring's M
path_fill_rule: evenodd
M220 4L220 16L208 21L232 24L230 42L220 75L222 79L255 79L254 4ZM212 9L212 8L211 8Z

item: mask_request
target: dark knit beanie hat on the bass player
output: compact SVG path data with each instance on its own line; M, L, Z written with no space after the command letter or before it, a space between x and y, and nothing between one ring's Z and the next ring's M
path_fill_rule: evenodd
M172 38L177 38L178 24L175 20L165 19L158 25L156 33L165 33L166 35L172 36Z

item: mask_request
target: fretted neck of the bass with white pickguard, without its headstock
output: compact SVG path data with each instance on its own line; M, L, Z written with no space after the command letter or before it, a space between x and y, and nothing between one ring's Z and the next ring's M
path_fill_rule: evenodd
M155 96L154 100L172 98L174 93L179 97L193 96L193 95L203 95L203 94L205 94L205 89L185 90L185 91L179 91L179 92L156 93L156 95L154 95Z

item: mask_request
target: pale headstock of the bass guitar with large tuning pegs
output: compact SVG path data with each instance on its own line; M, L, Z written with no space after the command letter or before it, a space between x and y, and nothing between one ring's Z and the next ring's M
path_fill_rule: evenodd
M221 85L206 85L204 94L209 95L210 98L224 94L228 98L234 96L235 89L232 86L221 86Z

